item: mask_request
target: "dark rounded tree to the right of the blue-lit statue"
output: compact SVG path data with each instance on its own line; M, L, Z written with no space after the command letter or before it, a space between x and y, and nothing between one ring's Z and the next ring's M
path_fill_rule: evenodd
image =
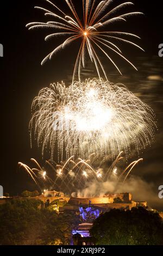
M98 217L90 230L96 245L161 245L161 217L143 207L112 209Z

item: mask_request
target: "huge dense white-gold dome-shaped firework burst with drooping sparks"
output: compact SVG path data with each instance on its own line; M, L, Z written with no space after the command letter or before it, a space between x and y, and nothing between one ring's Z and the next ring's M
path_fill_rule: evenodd
M154 113L123 84L86 80L51 84L43 88L32 105L30 131L38 145L57 154L85 158L131 149L138 153L154 138ZM34 129L34 130L33 130Z

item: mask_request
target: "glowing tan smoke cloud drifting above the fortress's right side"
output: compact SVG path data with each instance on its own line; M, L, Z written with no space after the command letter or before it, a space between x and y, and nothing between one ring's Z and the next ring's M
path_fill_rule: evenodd
M134 201L147 201L148 206L156 210L163 210L163 199L159 199L159 190L153 183L147 183L140 177L131 176L126 182L117 184L117 181L110 180L99 183L89 182L83 190L73 192L73 197L104 197L107 193L126 193L133 196Z

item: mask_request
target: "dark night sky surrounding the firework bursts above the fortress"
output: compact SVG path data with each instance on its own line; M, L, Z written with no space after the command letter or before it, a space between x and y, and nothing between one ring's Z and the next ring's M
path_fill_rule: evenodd
M63 0L55 2L58 2L62 8L66 6ZM80 0L74 2L78 3ZM115 2L122 1L115 0ZM139 70L136 72L121 58L115 56L123 73L123 76L120 76L109 60L104 58L103 63L111 82L126 84L131 92L154 109L159 130L152 147L148 147L141 155L144 161L136 167L134 174L150 184L155 197L153 206L161 208L163 199L158 200L158 186L163 185L163 57L158 56L158 45L163 44L162 6L161 1L158 0L154 2L135 0L133 2L135 3L134 10L142 11L145 16L130 18L125 25L119 27L117 25L117 27L121 31L136 33L141 37L139 45L146 50L145 53L133 46L125 44L122 46L124 54ZM78 44L71 45L55 55L51 62L41 66L42 59L53 50L54 46L60 44L60 39L45 42L47 29L28 31L27 23L47 20L42 11L34 9L35 5L53 9L43 0L15 0L1 3L0 43L4 46L4 57L0 58L0 185L4 187L5 192L15 195L26 189L37 189L26 172L18 168L17 163L21 161L30 165L30 158L35 158L43 164L46 160L41 159L40 149L30 148L28 125L32 101L39 90L50 83L64 81L70 84L78 51ZM87 72L87 76L97 75ZM135 157L133 154L133 159Z

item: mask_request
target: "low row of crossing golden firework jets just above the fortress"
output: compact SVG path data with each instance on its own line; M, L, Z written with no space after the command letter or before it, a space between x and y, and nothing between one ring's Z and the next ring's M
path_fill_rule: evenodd
M73 160L73 156L71 156L65 163L60 164L48 160L46 161L46 167L37 169L30 169L30 167L21 162L18 164L32 176L37 185L40 184L40 181L42 182L42 178L45 178L43 174L46 172L46 186L62 189L65 192L74 192L76 189L86 187L90 182L99 182L100 186L103 182L114 181L116 186L116 184L126 181L131 170L143 160L133 161L126 168L122 168L119 164L123 159L122 152L118 154L110 165L108 164L110 163L109 156L104 157L102 161L100 159L96 154L91 154L86 160ZM34 160L34 163L37 167L40 166L36 160ZM51 173L53 178L49 178L47 173Z

